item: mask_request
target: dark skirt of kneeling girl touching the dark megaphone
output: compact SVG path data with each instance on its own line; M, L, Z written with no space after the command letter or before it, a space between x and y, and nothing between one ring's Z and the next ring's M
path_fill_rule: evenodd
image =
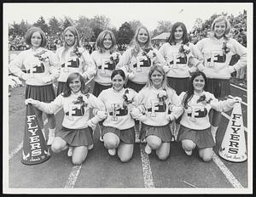
M90 127L83 129L69 129L62 127L61 130L56 133L56 136L62 138L70 146L89 146L94 144L92 129Z

